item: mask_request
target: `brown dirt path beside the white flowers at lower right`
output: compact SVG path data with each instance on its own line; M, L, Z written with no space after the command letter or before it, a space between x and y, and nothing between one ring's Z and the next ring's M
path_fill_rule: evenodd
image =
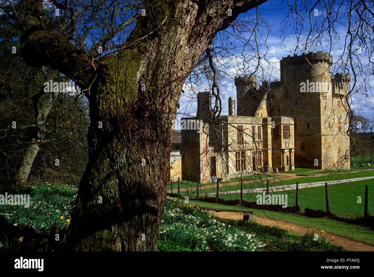
M237 213L237 212L219 212L216 213L215 211L211 211L212 215L224 219L236 219L236 220L242 220L243 214ZM263 225L269 225L269 226L276 226L280 224L280 227L282 229L285 229L287 231L293 231L296 234L304 235L306 233L306 227L296 225L293 223L285 222L283 220L274 220L269 219L265 217L257 217L257 223L263 224ZM292 230L292 227L294 228ZM370 246L365 243L361 243L358 241L354 241L350 238L344 238L340 237L338 235L329 234L329 238L331 242L337 246L344 247L345 249L353 250L353 251L374 251L374 246ZM332 238L332 235L334 238Z

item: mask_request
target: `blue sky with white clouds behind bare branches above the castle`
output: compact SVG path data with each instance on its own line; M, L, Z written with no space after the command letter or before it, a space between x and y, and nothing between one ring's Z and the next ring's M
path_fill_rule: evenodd
M260 44L264 43L263 35L267 36L267 47L265 45L261 45L259 48L260 53L265 54L267 52L266 55L260 58L260 64L262 68L258 69L256 73L257 82L259 84L263 79L267 79L268 81L280 79L279 61L283 56L286 57L287 55L293 55L295 52L295 43L297 42L297 36L295 35L296 33L294 30L294 25L291 24L291 26L289 26L284 23L284 16L285 14L288 15L288 9L284 6L279 6L280 4L280 1L272 1L264 3L259 7L259 12L261 13L263 19L267 21L267 25L269 26L269 31L267 30L267 28L260 27L258 30L259 33L257 34L257 41ZM340 37L338 37L337 40L332 43L331 55L333 57L334 63L339 60L340 55L342 55L343 58L346 57L347 51L345 51L344 54L344 42L345 36L347 34L347 19L346 15L344 14L345 9L346 7L344 6L340 8L339 16L341 16L341 20L339 24L335 25L337 34L340 35ZM242 19L249 22L254 22L255 12L256 10L252 9L251 11L242 14L239 16L239 20L237 21L240 22L240 20ZM322 24L322 22L326 20L326 13L326 9L323 6L318 7L318 13L313 10L313 12L311 13L313 29L316 28L315 26L318 26L318 24ZM306 41L306 34L309 33L310 30L309 17L306 18L303 26L305 29L304 33L299 36L301 42ZM252 27L252 24L248 25L249 30L252 30ZM232 27L229 27L227 30L221 33L227 34L228 32L232 33ZM246 45L246 40L248 40L249 36L251 35L251 31L243 31L241 35L243 38L240 40L238 40L237 37L231 35L228 37L228 41L222 41L219 43L217 39L213 45L219 46L222 43L229 42L234 43L235 46L230 54L217 53L214 58L215 66L217 67L217 70L219 70L221 77L219 83L222 95L221 98L223 100L224 114L227 114L228 112L227 99L229 98L229 96L234 96L236 98L234 77L236 75L248 74L253 71L256 63L259 60L258 58L251 57L257 51L251 48L251 46ZM323 33L321 39L319 39L319 43L313 41L313 43L307 47L307 52L329 51L330 43L327 39L327 32L325 32ZM254 44L253 36L249 39L249 44ZM359 45L354 45L354 47L356 48L356 52L359 52L357 51ZM296 50L296 54L301 54L302 52L304 52L303 49ZM368 63L368 55L366 54L365 49L361 49L361 54L358 54L358 56L362 64ZM373 57L371 58L373 60ZM343 71L347 72L344 67L346 67L345 64L342 61L339 61L338 63L333 64L332 73L335 74ZM373 74L368 74L368 72L358 72L357 78L358 82L362 82L363 79L366 78L365 81L371 86L374 86ZM203 78L203 76L200 74L198 75L198 79L198 81L196 81L196 78L193 78L193 80L187 79L186 84L184 85L184 93L181 95L180 109L178 110L177 118L183 117L184 115L195 115L197 92L210 90L211 85L206 78ZM370 87L358 83L356 85L356 88L358 92L353 93L351 97L352 109L359 112L361 115L373 118L374 105L373 95L371 93ZM362 95L365 90L367 90L367 97Z

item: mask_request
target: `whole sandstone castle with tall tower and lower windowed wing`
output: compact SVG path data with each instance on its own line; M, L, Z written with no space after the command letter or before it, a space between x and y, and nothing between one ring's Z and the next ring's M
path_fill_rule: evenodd
M280 81L258 86L256 76L238 76L229 115L213 117L210 92L198 93L196 117L173 134L171 180L349 169L350 75L332 75L331 65L327 52L309 52L283 57Z

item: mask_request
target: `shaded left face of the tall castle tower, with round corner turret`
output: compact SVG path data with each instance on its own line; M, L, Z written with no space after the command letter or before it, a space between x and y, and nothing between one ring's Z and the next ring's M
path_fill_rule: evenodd
M276 112L294 118L295 164L322 168L321 95L331 94L332 57L322 51L306 57L307 60L304 55L282 59L282 82L274 84L278 87L273 103Z

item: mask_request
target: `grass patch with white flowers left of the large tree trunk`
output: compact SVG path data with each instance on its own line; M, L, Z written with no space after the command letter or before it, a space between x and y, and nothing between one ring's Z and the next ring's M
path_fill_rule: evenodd
M52 251L63 247L77 189L46 183L16 190L8 193L30 194L30 207L0 205L0 251Z

